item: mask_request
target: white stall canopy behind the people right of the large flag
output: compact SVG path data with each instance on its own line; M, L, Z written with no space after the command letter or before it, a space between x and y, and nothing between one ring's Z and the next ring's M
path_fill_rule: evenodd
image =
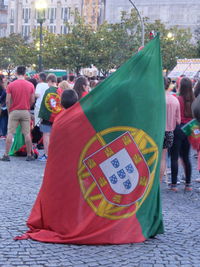
M170 72L168 77L176 79L181 75L189 78L200 77L200 58L178 59L176 67Z

